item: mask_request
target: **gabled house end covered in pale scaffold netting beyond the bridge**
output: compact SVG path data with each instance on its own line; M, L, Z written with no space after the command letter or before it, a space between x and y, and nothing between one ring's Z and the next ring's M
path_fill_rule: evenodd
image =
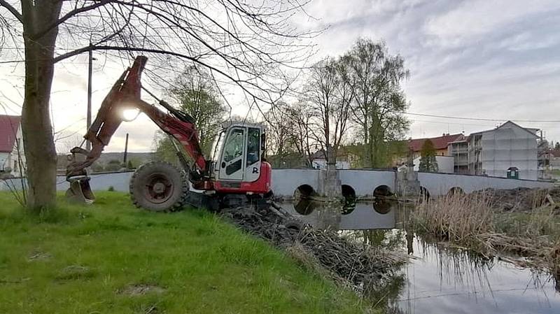
M537 180L538 129L507 121L468 137L470 174Z

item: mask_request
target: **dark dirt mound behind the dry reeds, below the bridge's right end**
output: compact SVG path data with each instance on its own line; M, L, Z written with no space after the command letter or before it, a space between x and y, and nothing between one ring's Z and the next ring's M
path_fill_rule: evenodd
M475 195L484 194L489 197L490 206L494 209L511 212L531 212L535 208L549 205L560 207L560 187L552 189L486 189L474 192Z

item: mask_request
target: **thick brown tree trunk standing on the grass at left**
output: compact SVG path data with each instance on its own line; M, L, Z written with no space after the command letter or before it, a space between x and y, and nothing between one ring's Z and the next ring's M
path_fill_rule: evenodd
M56 205L57 153L50 121L50 89L57 27L40 38L39 30L57 20L62 1L22 1L25 44L25 96L22 133L27 159L28 208L43 210Z

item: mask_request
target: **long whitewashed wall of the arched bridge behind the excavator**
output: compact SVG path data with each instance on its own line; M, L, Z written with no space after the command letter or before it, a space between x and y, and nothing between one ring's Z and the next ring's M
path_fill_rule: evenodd
M108 190L128 192L128 185L133 171L99 173L92 175L92 190ZM321 170L318 169L274 169L272 171L272 190L278 197L293 197L296 190L304 193L319 190ZM347 169L339 170L342 192L351 193L356 197L372 197L374 191L395 192L397 172L387 170ZM513 189L516 187L552 187L552 183L533 180L515 180L487 176L469 176L447 173L418 173L418 180L424 193L438 196L449 191L461 190L470 193L476 190L493 187L496 189ZM8 182L0 181L0 190L9 190L8 185L20 187L20 179ZM64 176L57 178L57 190L64 191L68 183Z

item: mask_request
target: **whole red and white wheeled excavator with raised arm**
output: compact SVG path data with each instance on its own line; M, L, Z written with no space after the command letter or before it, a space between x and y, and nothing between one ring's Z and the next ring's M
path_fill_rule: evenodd
M141 73L148 61L139 56L105 97L84 138L92 149L76 147L69 155L66 180L70 188L66 196L91 203L87 167L91 166L111 136L125 119L125 110L135 109L150 117L158 127L180 143L193 159L190 166L174 142L183 169L167 162L150 162L140 166L130 180L132 201L148 210L174 210L187 202L196 206L219 208L240 206L247 201L262 201L271 192L272 168L264 159L265 129L259 124L231 123L219 132L209 159L200 148L195 120L167 102L158 99L160 108L141 99ZM146 90L146 89L144 89ZM151 92L146 90L157 99Z

